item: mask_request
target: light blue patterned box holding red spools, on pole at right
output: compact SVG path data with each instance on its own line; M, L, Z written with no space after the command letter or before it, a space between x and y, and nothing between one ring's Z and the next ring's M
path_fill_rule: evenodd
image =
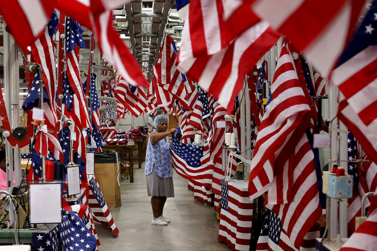
M337 176L333 173L327 175L327 196L331 198L352 198L353 176Z

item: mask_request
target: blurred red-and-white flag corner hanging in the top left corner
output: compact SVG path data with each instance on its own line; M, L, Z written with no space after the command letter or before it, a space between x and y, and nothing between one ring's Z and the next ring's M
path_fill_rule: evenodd
M0 12L16 43L23 50L43 32L54 11L54 5L55 1L50 0L1 1Z

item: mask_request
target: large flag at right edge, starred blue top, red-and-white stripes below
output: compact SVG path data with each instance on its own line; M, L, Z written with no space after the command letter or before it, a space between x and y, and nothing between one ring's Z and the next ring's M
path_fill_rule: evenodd
M368 6L363 22L332 72L331 80L344 95L338 116L358 139L364 151L377 162L376 97L377 1Z

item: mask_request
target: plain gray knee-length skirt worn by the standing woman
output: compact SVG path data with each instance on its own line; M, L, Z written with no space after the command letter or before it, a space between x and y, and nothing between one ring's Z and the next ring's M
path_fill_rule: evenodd
M149 175L146 175L146 191L148 196L174 197L173 178L161 178L155 172L155 165Z

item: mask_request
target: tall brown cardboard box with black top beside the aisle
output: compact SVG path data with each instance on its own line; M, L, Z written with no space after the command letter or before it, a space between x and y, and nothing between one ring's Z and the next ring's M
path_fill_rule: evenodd
M94 175L102 191L103 198L108 207L121 206L120 175L118 176L118 172L120 173L120 170L118 170L119 162L115 153L98 154L96 153L94 157Z

